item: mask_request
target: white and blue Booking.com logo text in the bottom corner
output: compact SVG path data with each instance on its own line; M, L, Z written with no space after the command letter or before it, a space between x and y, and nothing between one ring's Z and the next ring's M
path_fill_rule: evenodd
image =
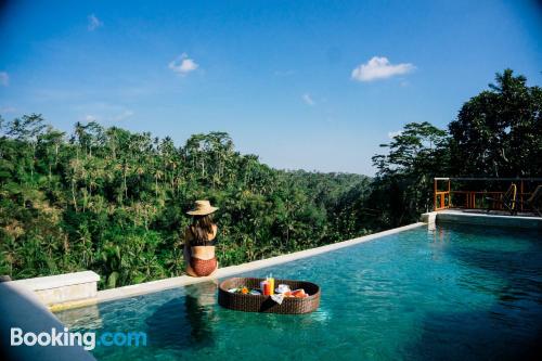
M96 346L146 346L144 332L104 332L96 337L94 332L69 332L51 328L51 332L23 332L23 328L11 328L11 346L82 346L86 350L93 350Z

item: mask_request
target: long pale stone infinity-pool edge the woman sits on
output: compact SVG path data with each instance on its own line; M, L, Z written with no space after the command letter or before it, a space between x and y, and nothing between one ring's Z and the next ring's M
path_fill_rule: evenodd
M177 276L177 278L169 278L169 279L164 279L164 280L144 282L144 283L129 285L129 286L122 286L122 287L118 287L118 288L103 289L103 291L98 292L98 295L95 298L87 299L87 300L82 300L82 301L59 304L59 305L51 306L50 309L52 311L60 311L60 310L65 310L65 309L79 308L79 307L101 304L101 302L105 302L105 301L112 301L112 300L116 300L116 299L141 296L141 295L156 293L156 292L160 292L160 291L165 291L165 289L182 287L182 286L186 286L190 284L212 281L212 280L217 280L217 279L223 279L223 278L227 278L230 275L234 275L234 274L238 274L238 273L243 273L243 272L248 272L248 271L254 271L254 270L258 270L258 269L270 267L270 266L281 265L281 263L294 261L294 260L301 259L301 258L321 255L321 254L324 254L324 253L327 253L331 250L336 250L336 249L353 246L353 245L357 245L360 243L364 243L364 242L373 241L373 240L380 238L380 237L384 237L387 235L400 233L400 232L415 229L415 228L418 228L422 225L427 225L427 224L424 222L412 223L412 224L408 224L408 225L395 228L391 230L364 235L364 236L348 240L348 241L328 244L328 245L321 246L321 247L299 250L299 252L295 252L292 254L266 258L266 259L256 260L256 261L251 261L251 262L247 262L247 263L219 268L217 270L217 272L215 272L212 275L206 276L206 278L193 278L190 275L181 275L181 276Z

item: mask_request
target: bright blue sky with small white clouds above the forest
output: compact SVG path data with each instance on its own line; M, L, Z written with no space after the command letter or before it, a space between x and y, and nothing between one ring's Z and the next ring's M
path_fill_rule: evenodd
M13 1L0 114L228 131L276 168L373 175L409 121L444 127L511 67L542 85L534 1Z

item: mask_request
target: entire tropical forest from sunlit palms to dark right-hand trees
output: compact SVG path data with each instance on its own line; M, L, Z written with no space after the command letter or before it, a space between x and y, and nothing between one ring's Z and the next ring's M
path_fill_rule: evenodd
M450 120L404 125L367 177L273 169L225 131L182 142L0 118L0 274L93 270L102 289L181 275L195 199L220 208L224 267L415 222L433 209L434 177L542 175L542 88L524 76L498 73Z

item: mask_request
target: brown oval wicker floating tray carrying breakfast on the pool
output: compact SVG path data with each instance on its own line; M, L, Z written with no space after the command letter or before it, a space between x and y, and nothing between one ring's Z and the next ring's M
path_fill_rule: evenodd
M275 286L287 284L292 289L304 288L309 297L286 297L282 305L276 304L270 296L233 294L228 289L238 286L259 288L264 279L234 278L220 283L218 288L218 304L222 307L245 312L269 312L269 313L308 313L320 306L320 286L305 281L275 280Z

